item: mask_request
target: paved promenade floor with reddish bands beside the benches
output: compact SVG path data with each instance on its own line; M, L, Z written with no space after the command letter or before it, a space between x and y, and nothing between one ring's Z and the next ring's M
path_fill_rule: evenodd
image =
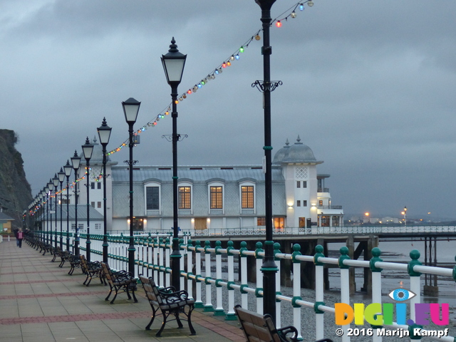
M245 341L237 321L227 323L212 314L195 309L192 323L197 331L190 336L186 322L178 329L167 323L162 337L156 338L161 316L146 331L152 310L138 286L138 303L119 294L115 304L105 301L109 286L93 279L83 285L86 276L76 269L67 274L69 264L59 268L51 255L42 256L24 242L0 243L0 341Z

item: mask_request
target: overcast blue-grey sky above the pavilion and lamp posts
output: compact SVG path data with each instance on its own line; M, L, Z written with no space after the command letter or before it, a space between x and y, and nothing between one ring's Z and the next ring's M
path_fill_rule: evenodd
M273 155L300 135L346 214L399 217L406 205L408 217L456 217L456 2L314 3L271 28L271 79L283 82L271 96ZM271 16L295 4L277 0ZM135 129L167 108L160 56L172 36L187 54L182 94L237 53L260 16L254 0L0 0L0 128L19 135L32 195L103 116L108 148L128 138L123 100L142 102ZM263 78L261 45L178 105L189 136L180 165L261 165L262 98L251 87ZM146 130L134 159L172 165L171 132L170 116ZM128 149L112 159L123 165Z

